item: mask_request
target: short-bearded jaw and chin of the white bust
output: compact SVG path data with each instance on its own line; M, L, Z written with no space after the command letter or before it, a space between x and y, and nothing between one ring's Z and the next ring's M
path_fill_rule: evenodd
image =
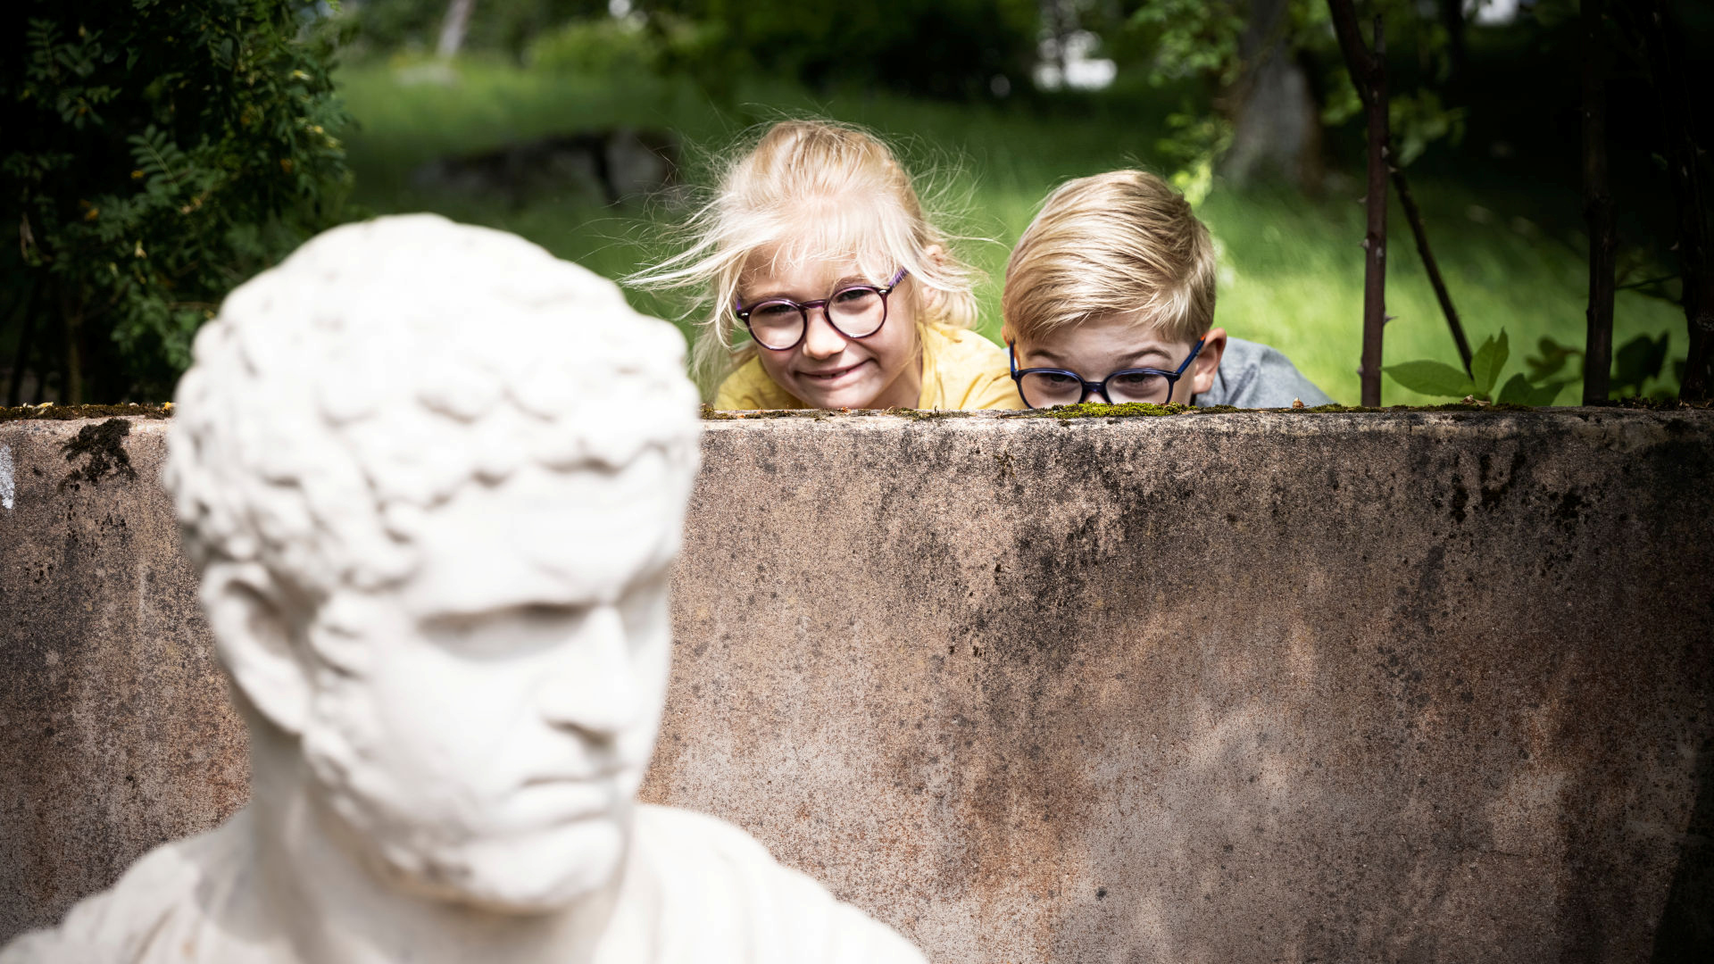
M614 885L636 808L545 827L506 827L507 789L470 768L401 772L399 748L362 712L362 681L321 693L302 738L314 810L327 835L384 885L506 914L571 907ZM394 763L394 767L389 767Z

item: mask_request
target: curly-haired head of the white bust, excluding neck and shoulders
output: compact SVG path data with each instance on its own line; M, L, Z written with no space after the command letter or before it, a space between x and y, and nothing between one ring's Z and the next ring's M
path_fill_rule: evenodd
M233 292L166 482L257 792L298 779L422 895L533 913L612 880L696 401L670 324L494 230L341 226Z

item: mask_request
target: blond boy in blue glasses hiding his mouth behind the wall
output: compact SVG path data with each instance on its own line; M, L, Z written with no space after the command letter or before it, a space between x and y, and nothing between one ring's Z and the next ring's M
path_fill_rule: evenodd
M1208 228L1159 177L1061 185L1006 264L1001 331L1023 401L1330 403L1286 355L1214 328L1214 280Z

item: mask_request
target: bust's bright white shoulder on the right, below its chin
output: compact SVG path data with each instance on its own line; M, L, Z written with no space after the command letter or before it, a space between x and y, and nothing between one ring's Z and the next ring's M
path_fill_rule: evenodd
M662 890L663 961L924 962L893 928L780 865L725 820L643 804L636 846Z

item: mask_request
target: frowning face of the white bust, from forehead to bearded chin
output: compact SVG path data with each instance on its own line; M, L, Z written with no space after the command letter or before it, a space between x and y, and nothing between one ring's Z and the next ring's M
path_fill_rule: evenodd
M411 521L411 578L315 612L303 753L336 839L500 911L612 880L665 698L684 475L648 451L464 485Z

